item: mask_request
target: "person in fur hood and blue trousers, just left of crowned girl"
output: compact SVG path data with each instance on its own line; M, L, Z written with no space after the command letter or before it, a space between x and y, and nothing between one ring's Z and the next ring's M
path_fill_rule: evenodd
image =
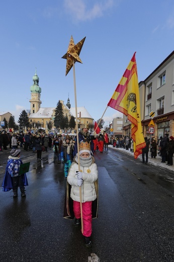
M66 136L61 147L61 161L64 163L64 175L67 177L69 167L73 160L73 143L70 136Z

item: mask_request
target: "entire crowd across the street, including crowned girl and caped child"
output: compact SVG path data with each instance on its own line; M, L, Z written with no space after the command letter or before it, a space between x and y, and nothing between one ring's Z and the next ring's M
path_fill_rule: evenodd
M148 163L149 150L151 158L154 159L158 150L161 162L167 162L168 166L173 165L174 138L172 136L165 134L157 142L153 137L151 141L147 137L144 140L146 147L142 150L142 163ZM20 159L20 148L36 152L38 160L42 159L43 151L47 152L48 148L53 149L53 162L64 163L64 176L67 178L64 218L75 218L75 227L79 227L81 223L85 246L91 247L92 218L98 217L98 169L94 152L96 150L101 153L104 150L107 151L108 144L116 148L130 149L133 152L132 138L128 136L109 138L105 131L93 136L86 127L79 130L78 145L76 136L32 134L30 131L27 134L3 131L0 133L0 151L7 150L7 146L11 149L2 184L3 190L13 189L14 198L17 198L19 187L21 197L26 197L25 186L28 185L28 181L26 174L20 174L20 166L23 164ZM81 200L79 188L83 195Z

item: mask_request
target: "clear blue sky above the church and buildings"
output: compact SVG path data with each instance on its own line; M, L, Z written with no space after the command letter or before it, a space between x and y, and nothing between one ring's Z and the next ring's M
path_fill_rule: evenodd
M65 77L66 53L86 37L75 63L77 106L102 117L133 53L138 81L174 50L173 0L4 1L0 9L0 111L18 120L30 109L30 86L37 68L42 107L74 107L73 70ZM108 108L105 124L121 113Z

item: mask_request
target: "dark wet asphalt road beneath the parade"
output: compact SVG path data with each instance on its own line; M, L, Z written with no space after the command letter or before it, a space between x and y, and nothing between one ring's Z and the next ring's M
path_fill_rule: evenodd
M99 218L93 220L93 247L86 248L73 221L62 218L63 164L53 163L53 151L37 161L35 153L22 150L23 162L31 162L27 197L0 191L0 261L85 262L92 252L100 262L174 261L173 171L144 166L112 148L106 153L95 153ZM161 179L166 175L171 182Z

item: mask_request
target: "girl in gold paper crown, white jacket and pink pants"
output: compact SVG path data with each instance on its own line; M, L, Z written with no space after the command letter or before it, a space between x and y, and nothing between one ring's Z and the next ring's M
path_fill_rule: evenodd
M71 185L70 198L73 200L75 227L80 225L79 186L81 186L83 235L86 247L91 247L92 203L97 199L95 181L98 179L98 169L88 142L81 141L79 144L79 161L80 171L78 171L78 157L76 155L69 169L67 182Z

